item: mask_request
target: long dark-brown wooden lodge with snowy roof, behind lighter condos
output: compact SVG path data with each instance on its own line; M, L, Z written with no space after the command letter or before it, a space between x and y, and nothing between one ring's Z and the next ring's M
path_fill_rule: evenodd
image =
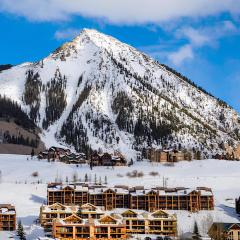
M126 186L62 185L49 184L47 191L48 204L82 205L91 203L103 206L106 210L115 208L139 209L154 212L156 210L213 210L212 190L198 187L145 189Z

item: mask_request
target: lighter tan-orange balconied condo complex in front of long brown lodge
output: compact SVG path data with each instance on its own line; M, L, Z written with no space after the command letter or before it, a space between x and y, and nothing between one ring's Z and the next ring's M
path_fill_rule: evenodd
M101 208L89 203L78 207L77 212L76 208L58 203L42 206L40 211L41 224L45 228L45 223L51 223L53 236L60 239L71 237L74 239L96 239L100 237L96 233L100 232L105 233L102 235L103 238L118 239L126 238L126 234L177 235L176 216L162 210L149 213L128 209L108 211L106 214ZM65 209L64 213L63 209ZM49 217L46 218L46 215Z

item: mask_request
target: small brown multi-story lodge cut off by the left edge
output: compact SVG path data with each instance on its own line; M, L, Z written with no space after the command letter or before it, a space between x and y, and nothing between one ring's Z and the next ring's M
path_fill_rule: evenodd
M16 230L16 210L10 204L0 204L0 231Z

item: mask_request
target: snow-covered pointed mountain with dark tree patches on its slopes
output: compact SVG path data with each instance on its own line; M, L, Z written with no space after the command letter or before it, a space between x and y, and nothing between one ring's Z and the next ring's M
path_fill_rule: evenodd
M44 129L47 146L58 142L132 157L148 146L212 154L240 140L234 109L95 30L83 30L37 63L2 71L0 94L20 103Z

